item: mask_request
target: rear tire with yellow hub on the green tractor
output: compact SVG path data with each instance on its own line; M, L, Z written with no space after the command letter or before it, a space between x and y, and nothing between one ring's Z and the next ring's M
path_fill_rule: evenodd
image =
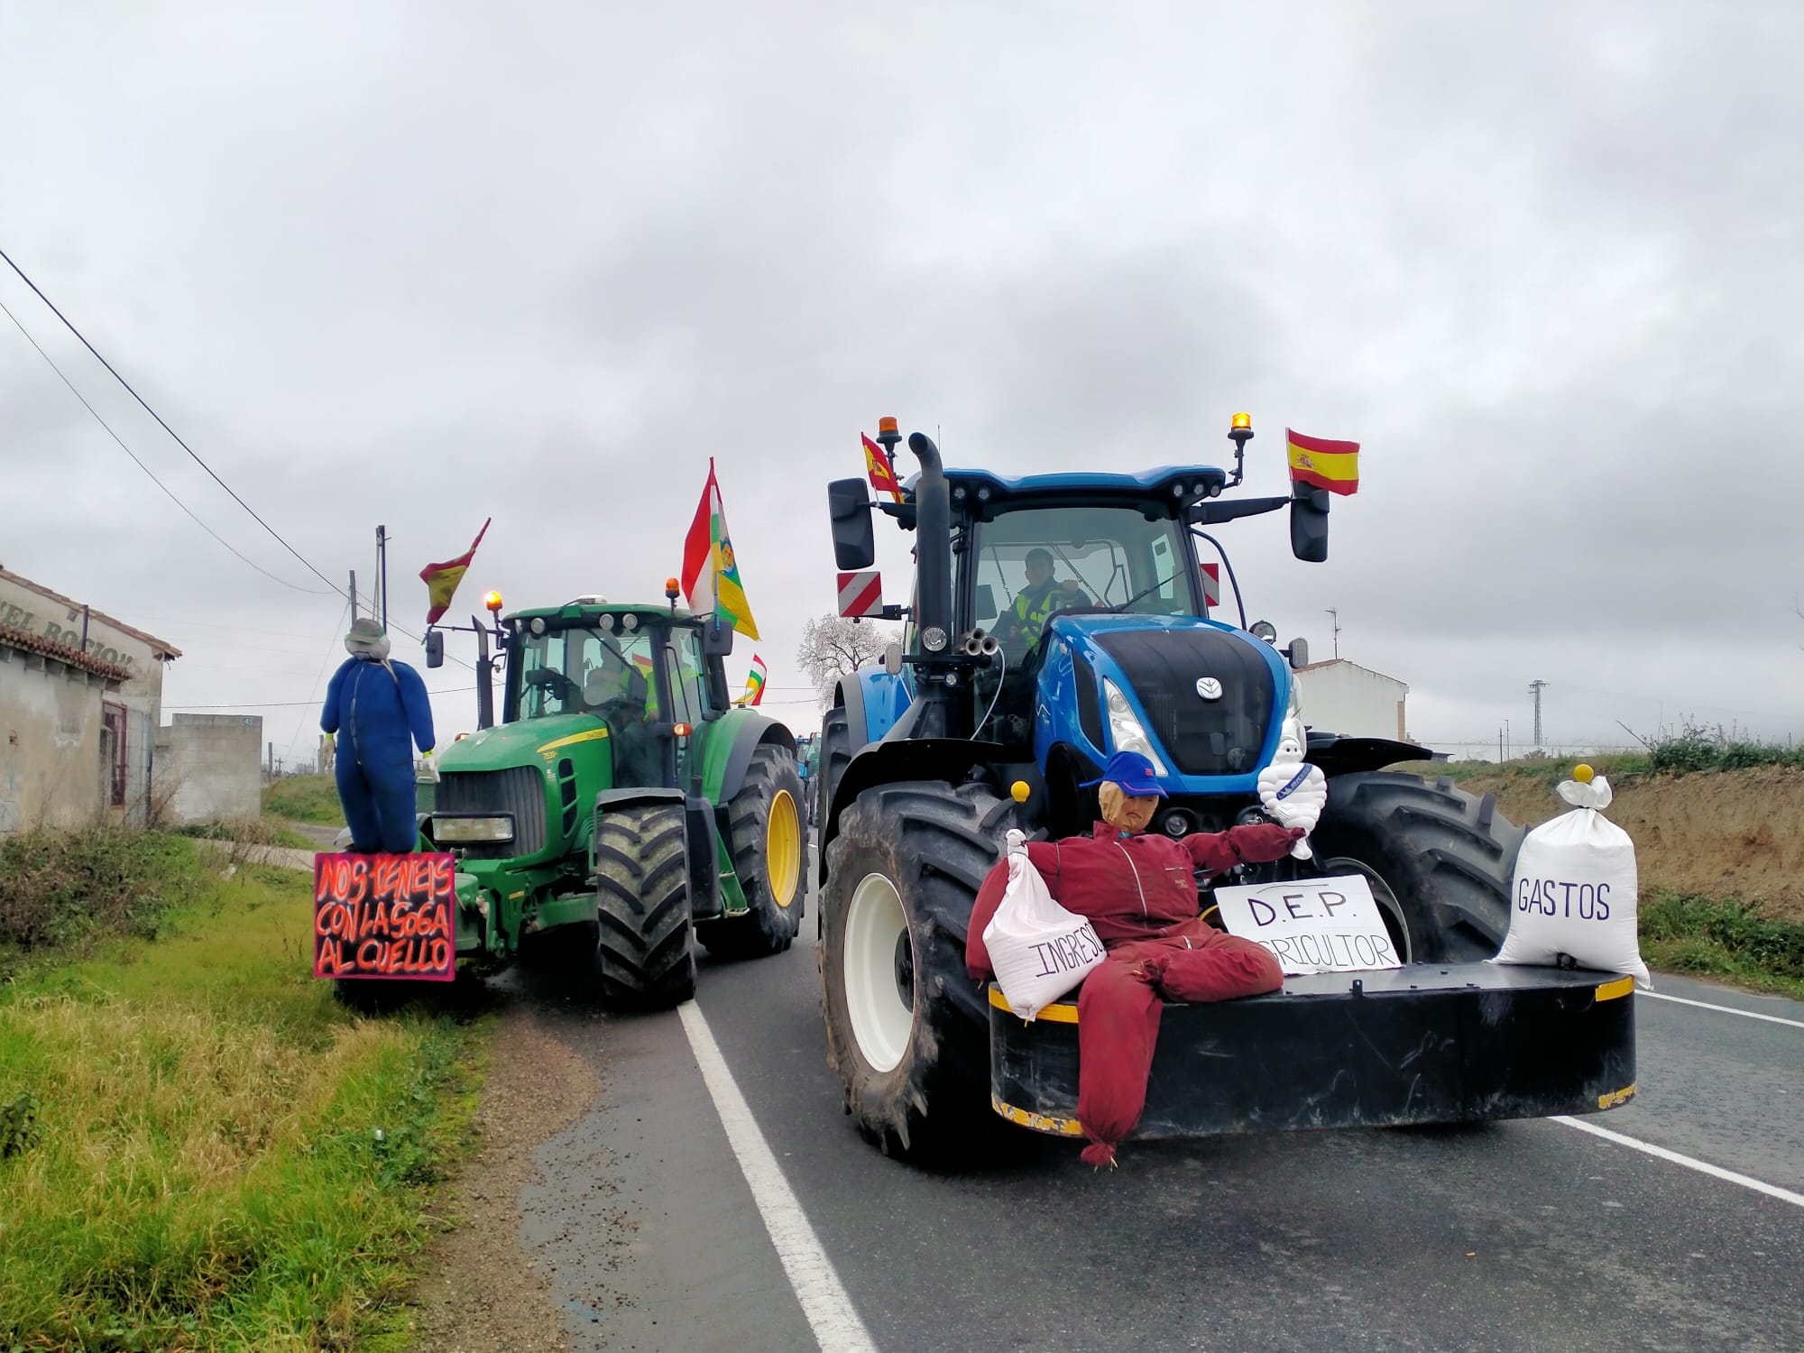
M696 936L718 958L781 954L801 929L808 895L808 830L796 754L772 743L752 752L727 817L732 871L745 889L747 909L707 922Z

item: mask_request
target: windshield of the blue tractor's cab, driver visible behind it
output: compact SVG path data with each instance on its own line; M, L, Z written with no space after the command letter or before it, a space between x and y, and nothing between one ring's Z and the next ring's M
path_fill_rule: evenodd
M971 621L1010 662L1061 610L1203 615L1183 527L1135 507L1023 507L978 521L962 556Z

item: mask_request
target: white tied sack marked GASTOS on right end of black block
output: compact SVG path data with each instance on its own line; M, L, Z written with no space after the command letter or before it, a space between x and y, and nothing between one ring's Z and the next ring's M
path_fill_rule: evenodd
M1542 823L1515 857L1510 933L1492 963L1555 965L1627 972L1652 987L1636 931L1634 842L1604 817L1609 781L1568 779L1559 787L1573 812Z

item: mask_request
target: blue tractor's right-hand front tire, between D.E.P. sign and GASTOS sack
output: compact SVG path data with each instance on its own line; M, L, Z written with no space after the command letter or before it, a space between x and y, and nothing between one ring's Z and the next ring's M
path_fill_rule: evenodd
M1404 962L1492 958L1510 929L1523 828L1452 781L1367 770L1328 781L1310 833L1322 873L1362 873Z

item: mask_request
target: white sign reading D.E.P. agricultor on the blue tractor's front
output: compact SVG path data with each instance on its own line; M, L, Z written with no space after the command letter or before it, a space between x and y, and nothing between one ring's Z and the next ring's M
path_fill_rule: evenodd
M1364 875L1218 888L1229 934L1263 943L1284 976L1404 967Z

